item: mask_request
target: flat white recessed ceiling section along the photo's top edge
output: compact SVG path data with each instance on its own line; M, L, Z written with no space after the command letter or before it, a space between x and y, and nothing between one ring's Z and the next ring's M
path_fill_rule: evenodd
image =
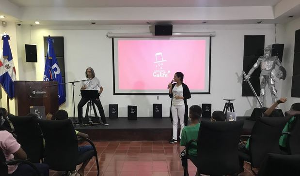
M19 7L274 6L281 0L8 0Z

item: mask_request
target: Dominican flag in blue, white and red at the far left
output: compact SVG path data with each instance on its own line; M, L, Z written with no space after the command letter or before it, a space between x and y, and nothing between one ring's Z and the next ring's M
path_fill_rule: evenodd
M0 58L0 84L4 88L10 99L15 97L14 93L14 81L16 80L16 69L13 62L12 51L8 40L10 40L8 34L2 36L3 49Z

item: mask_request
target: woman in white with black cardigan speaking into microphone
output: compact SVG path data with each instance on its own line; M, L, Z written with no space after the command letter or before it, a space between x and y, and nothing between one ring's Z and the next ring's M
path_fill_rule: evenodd
M171 113L170 118L173 122L173 137L169 143L177 143L177 126L178 116L180 120L180 137L182 129L187 125L188 121L188 105L187 99L190 98L189 88L183 83L183 73L176 72L174 74L174 84L169 84L169 96L171 98ZM186 124L185 124L186 122Z

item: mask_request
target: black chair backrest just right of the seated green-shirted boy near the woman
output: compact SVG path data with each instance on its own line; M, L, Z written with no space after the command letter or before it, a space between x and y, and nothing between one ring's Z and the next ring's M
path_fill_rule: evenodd
M197 150L201 174L232 175L239 170L237 144L244 121L202 121Z

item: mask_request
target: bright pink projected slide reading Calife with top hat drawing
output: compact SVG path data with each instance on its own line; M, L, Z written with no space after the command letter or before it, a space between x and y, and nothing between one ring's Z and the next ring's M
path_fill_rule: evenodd
M166 90L176 72L184 74L189 89L205 89L205 45L205 40L119 40L119 89Z

